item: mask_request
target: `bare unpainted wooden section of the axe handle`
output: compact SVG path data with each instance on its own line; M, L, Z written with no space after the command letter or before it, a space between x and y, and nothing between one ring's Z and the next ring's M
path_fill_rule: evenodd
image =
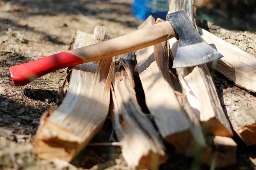
M108 57L136 51L175 37L171 24L166 21L155 26L134 31L106 42L67 51L83 59L84 62L96 61Z

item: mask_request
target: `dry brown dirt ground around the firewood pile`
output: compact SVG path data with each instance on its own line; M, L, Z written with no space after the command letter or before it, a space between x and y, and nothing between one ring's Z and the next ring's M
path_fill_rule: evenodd
M89 146L71 164L38 159L33 151L34 135L42 113L56 105L58 88L64 81L66 69L41 77L29 85L14 87L8 68L66 51L77 29L93 33L95 26L105 25L111 37L135 31L142 21L131 14L131 3L132 0L0 0L0 169L125 169L119 147ZM223 23L218 25L204 20L211 18L212 10L201 8L198 14L201 14L198 15L200 26L250 54L256 54L255 35L251 34L256 27L252 21L244 17L245 27L234 25L233 30L228 31L224 28L230 27ZM239 31L241 29L245 30ZM221 75L213 77L219 94L227 89L231 92L239 89L224 78L218 79ZM107 119L93 142L109 142L111 131L111 121ZM238 138L236 141L239 142L238 162L229 169L256 168L256 154L253 153L256 148L245 147ZM173 156L160 169L209 169L191 162L195 161Z

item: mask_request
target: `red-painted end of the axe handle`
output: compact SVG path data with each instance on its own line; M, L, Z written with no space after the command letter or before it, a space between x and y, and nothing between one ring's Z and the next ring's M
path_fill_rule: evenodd
M52 71L82 64L84 61L74 54L61 52L9 68L15 86L23 86Z

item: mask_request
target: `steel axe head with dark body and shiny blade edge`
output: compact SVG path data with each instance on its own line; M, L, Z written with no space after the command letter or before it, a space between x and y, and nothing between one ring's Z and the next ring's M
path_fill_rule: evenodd
M223 57L212 48L196 31L186 11L177 11L166 15L176 39L179 40L172 68L192 67Z

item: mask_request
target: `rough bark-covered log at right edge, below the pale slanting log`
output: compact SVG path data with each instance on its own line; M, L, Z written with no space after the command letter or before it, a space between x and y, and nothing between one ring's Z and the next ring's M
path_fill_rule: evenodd
M256 97L230 84L220 74L214 79L234 131L247 146L256 144Z

